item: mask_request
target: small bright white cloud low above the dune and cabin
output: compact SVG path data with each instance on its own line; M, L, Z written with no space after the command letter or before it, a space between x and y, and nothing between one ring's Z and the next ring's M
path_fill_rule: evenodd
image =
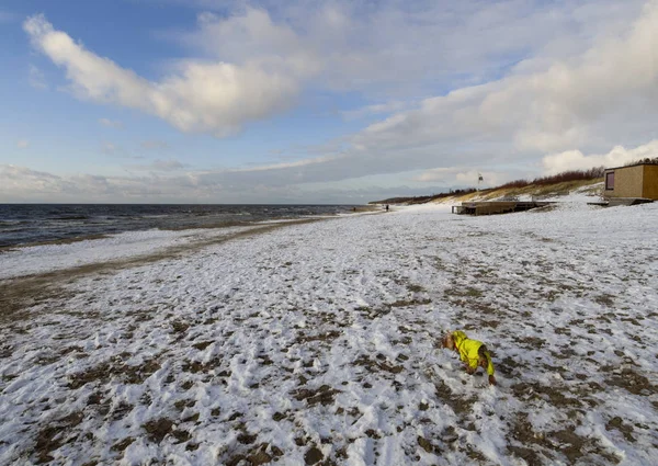
M651 140L634 149L616 146L606 154L589 156L583 155L580 150L567 150L544 157L542 166L545 174L556 174L567 170L589 170L594 167L614 168L657 156L658 140Z

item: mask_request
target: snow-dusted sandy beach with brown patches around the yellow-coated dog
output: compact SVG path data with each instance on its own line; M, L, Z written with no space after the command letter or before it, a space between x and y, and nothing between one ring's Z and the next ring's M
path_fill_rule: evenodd
M449 211L237 237L0 317L0 464L655 464L658 204ZM456 328L497 387L436 348Z

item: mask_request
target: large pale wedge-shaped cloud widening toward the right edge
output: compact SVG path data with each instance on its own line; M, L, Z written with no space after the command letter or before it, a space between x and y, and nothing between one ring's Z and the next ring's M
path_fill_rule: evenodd
M355 135L354 163L376 157L395 171L509 162L646 140L658 118L657 25L651 1L626 34L598 37L580 56L426 99Z

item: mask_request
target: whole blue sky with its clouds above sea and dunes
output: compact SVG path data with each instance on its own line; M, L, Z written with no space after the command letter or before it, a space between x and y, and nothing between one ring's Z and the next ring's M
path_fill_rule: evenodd
M3 0L0 203L364 204L658 155L658 0Z

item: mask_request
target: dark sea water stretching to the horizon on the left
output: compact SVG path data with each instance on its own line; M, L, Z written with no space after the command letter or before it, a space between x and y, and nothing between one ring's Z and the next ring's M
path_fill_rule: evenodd
M0 204L0 247L147 229L334 215L348 205Z

